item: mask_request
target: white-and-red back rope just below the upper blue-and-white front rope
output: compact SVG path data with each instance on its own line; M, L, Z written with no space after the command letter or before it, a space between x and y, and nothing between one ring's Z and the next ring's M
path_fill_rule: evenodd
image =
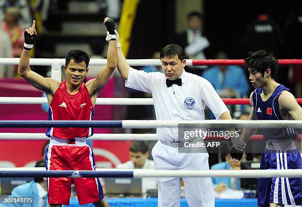
M44 133L0 133L0 140L49 140ZM262 140L263 135L252 135L250 140ZM297 139L301 139L301 134ZM89 140L158 141L156 134L94 134ZM205 137L205 140L225 140L223 137Z

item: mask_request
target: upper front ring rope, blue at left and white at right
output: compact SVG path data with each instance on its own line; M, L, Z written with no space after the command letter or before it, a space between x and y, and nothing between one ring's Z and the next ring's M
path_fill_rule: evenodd
M1 120L0 128L45 128L45 127L76 127L76 128L131 128L145 129L157 127L179 127L179 124L190 124L190 127L205 128L302 128L302 120ZM196 124L196 125L194 125ZM180 125L188 127L188 125Z

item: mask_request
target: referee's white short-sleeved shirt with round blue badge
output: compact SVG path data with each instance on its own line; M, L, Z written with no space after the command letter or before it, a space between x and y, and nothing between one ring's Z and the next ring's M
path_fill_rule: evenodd
M125 86L152 93L157 120L204 120L205 106L209 107L216 119L228 112L227 106L209 81L185 70L180 78L182 86L173 84L168 88L163 73L147 73L130 67ZM186 98L194 99L194 107L188 107ZM157 128L156 135L163 142L178 142L176 127Z

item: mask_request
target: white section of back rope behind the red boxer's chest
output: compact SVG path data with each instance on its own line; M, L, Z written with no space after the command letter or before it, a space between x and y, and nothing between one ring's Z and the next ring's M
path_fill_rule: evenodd
M0 97L0 104L48 104L46 97ZM97 105L153 105L152 98L97 98Z

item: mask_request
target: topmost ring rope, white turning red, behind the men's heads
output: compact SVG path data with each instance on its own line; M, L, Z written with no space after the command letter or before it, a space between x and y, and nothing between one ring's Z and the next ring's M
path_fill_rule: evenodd
M160 59L127 59L130 66L160 66ZM65 65L65 59L31 58L30 65ZM90 59L89 65L106 65L107 59ZM18 65L19 58L0 58L0 64ZM186 59L186 65L243 65L243 59ZM279 59L279 65L302 65L302 59Z

